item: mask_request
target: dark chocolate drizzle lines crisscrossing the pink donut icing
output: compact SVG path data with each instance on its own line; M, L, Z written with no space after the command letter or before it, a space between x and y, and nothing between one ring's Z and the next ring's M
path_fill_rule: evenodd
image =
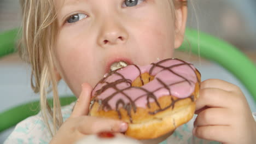
M179 62L182 62L182 63L174 64L174 65L171 65L170 67L164 67L164 66L161 65L162 63L164 63L164 62L166 62L166 61L173 61L173 60L179 61ZM172 85L177 85L177 84L182 83L182 82L188 82L189 85L191 86L191 85L192 85L192 81L186 79L184 76L179 75L179 74L177 74L176 72L174 72L174 71L172 70L172 68L179 67L179 66L181 66L181 65L187 65L189 68L191 68L191 69L194 71L194 73L195 73L195 75L196 75L197 69L194 69L194 68L191 66L192 64L187 63L187 62L184 62L184 61L182 61L181 59L169 58L169 59L164 59L164 60L162 60L162 61L160 61L160 62L158 62L158 63L152 63L152 67L151 67L150 70L149 70L149 75L152 75L153 70L154 70L156 67L159 67L159 68L161 68L162 70L168 70L168 71L170 71L170 73L172 73L172 74L174 74L174 75L176 75L176 76L178 76L178 77L181 77L182 80L181 80L181 81L178 81L178 82L175 82L175 83L166 84L164 81L162 81L162 80L156 78L156 80L162 85L162 87L157 88L157 89L155 89L155 90L152 91L152 92L148 91L147 89L145 89L145 88L143 88L143 87L133 87L133 88L137 88L137 89L140 89L141 91L144 91L144 92L145 92L145 94L140 95L140 96L137 97L135 100L132 100L132 99L129 97L129 95L127 95L126 93L124 93L125 90L130 89L130 88L132 87L132 81L129 80L129 79L125 79L125 77L124 77L123 75L121 75L120 73L118 73L118 70L119 70L119 69L114 70L114 71L110 71L110 73L109 73L106 77L104 77L100 82L98 82L98 84L99 84L99 83L106 83L106 85L104 85L103 87L101 87L101 89L98 89L98 90L95 92L95 95L93 95L92 101L93 101L94 103L95 103L95 101L97 101L98 104L100 104L99 110L112 110L112 107L109 105L109 100L111 100L113 97L115 97L115 95L117 95L118 93L123 94L124 97L129 100L129 103L125 103L125 101L124 101L123 99L118 99L117 102L115 103L115 110L118 112L119 118L121 119L120 108L125 109L125 110L127 111L127 115L130 117L130 122L131 122L131 123L132 123L131 111L133 111L134 113L136 113L136 111L137 111L137 106L136 106L135 102L136 102L138 99L142 98L142 97L146 97L146 98L147 98L147 107L148 107L148 108L150 108L150 99L152 99L152 100L156 103L156 105L159 107L158 110L155 110L155 111L153 111L153 112L149 112L150 115L155 115L156 113L161 112L161 111L164 111L164 110L166 110L166 109L169 109L170 107L172 107L172 109L173 109L175 103L176 103L177 101L179 101L179 100L182 100L182 98L179 98L179 99L174 100L173 97L170 97L170 98L171 98L171 101L172 101L171 104L168 105L168 106L166 106L166 107L161 107L160 104L159 104L158 98L156 97L156 95L154 95L154 92L159 91L159 89L161 89L161 88L165 88L165 89L167 89L168 93L171 95L170 86L172 86ZM138 71L139 71L139 78L140 78L140 80L141 80L142 85L144 85L144 81L143 81L142 76L141 76L141 70L139 69L139 67L138 67L137 65L134 65L134 66L138 69ZM161 70L161 71L162 71L162 70ZM197 72L198 72L198 71L197 71ZM121 79L118 79L118 80L116 80L116 81L114 81L114 82L110 82L110 83L109 83L109 82L106 82L107 78L108 78L109 76L113 75L113 74L120 76ZM200 73L199 73L199 74L200 74ZM196 77L197 77L197 76L196 76ZM118 89L117 85L118 85L119 83L123 83L123 82L127 83L127 85L129 85L129 86L126 87L126 88L123 88L123 89ZM149 82L150 82L150 77L149 77ZM200 83L199 77L197 77L197 82ZM97 84L97 85L98 85L98 84ZM97 85L96 85L96 86L97 86ZM112 94L110 94L107 98L104 98L104 99L97 98L98 95L100 95L101 93L103 93L104 91L106 91L106 90L109 89L109 88L115 89L115 92L112 93ZM194 99L194 95L190 95L190 96L187 97L187 98L190 98L191 101L194 101L194 100L195 100L195 99ZM187 99L187 98L183 98L183 99ZM94 103L93 103L93 104L94 104Z

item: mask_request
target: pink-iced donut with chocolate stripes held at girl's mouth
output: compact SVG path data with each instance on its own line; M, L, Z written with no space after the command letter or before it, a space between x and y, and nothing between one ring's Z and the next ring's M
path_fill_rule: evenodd
M168 58L146 66L110 71L92 90L90 116L120 119L125 135L154 139L194 115L201 74L193 64Z

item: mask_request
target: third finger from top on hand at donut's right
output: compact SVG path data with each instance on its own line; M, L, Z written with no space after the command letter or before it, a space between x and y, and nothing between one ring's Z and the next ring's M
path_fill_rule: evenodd
M232 113L229 109L208 108L199 113L194 122L194 127L206 125L230 125Z

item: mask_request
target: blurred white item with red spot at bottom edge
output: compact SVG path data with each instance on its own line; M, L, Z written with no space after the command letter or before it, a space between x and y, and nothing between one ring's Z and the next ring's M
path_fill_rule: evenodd
M83 139L79 140L75 144L142 144L138 140L131 139L130 137L124 136L123 134L102 132L96 135L88 135Z

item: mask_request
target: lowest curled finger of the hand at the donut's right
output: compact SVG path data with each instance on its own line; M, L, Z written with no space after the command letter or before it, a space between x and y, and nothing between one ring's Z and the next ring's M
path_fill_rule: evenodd
M208 125L203 127L195 127L193 134L200 138L210 141L218 141L226 143L230 137L232 128L225 125Z

